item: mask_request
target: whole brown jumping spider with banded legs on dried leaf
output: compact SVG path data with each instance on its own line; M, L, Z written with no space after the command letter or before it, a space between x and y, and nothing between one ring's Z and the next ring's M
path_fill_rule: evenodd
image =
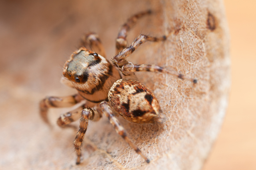
M105 51L96 33L88 33L82 39L81 47L66 61L63 68L61 82L75 88L78 93L66 97L46 97L40 102L42 119L49 123L47 118L50 107L70 107L85 100L86 103L77 109L60 115L57 124L60 127L68 126L80 118L79 130L74 140L76 164L81 161L81 147L88 127L88 121L98 121L102 113L108 117L116 132L134 149L146 162L150 160L134 145L127 136L125 129L120 125L116 116L133 123L162 123L165 115L159 106L153 92L136 81L135 72L161 72L186 79L192 83L197 80L186 77L173 70L168 70L153 64L132 64L126 60L142 43L146 41L164 41L166 36L157 38L148 35L139 35L128 46L127 32L136 23L138 18L150 14L151 11L141 12L130 17L120 28L116 39L116 56L112 63L104 58ZM85 48L89 45L94 51ZM119 71L118 71L119 70ZM96 107L97 109L92 109Z

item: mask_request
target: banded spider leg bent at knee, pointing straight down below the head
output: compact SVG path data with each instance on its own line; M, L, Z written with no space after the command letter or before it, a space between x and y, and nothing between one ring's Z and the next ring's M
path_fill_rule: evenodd
M80 123L79 123L79 130L76 133L76 138L74 141L74 147L76 150L76 164L80 164L81 161L81 147L82 147L82 143L84 141L84 134L86 133L87 127L88 127L88 121L89 120L94 120L97 121L98 119L94 118L94 117L101 117L101 114L96 111L93 110L91 108L85 108L82 110L81 112L81 119L80 119Z

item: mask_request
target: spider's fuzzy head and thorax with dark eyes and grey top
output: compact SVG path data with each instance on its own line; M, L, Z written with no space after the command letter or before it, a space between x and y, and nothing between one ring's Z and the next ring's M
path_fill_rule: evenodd
M99 103L108 100L108 91L116 80L118 71L98 53L81 47L66 61L63 76L86 100Z

